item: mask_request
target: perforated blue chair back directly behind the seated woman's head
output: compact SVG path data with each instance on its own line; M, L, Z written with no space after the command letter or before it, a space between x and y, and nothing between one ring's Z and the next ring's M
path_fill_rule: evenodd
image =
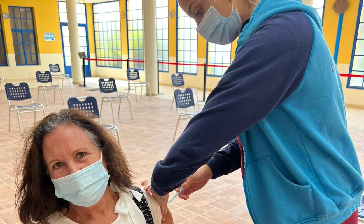
M80 101L80 99L84 99ZM73 97L68 99L68 109L82 110L87 114L93 114L97 117L99 114L99 107L95 97Z

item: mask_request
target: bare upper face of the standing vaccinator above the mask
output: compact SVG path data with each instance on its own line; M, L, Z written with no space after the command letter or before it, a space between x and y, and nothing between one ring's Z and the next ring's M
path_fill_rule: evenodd
M178 3L183 11L199 25L207 10L214 4L214 0L178 0ZM229 0L215 0L215 9L222 17L229 17L232 12L231 4Z

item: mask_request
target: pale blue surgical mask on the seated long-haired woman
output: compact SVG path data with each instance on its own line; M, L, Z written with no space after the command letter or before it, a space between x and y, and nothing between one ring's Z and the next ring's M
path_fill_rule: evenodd
M107 187L108 175L101 159L73 174L52 180L57 197L72 204L90 207L99 202Z

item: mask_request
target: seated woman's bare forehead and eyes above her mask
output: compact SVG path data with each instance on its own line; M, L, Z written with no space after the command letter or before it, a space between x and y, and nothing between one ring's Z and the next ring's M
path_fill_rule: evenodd
M76 125L61 125L43 139L43 158L51 179L68 176L100 160L101 151ZM103 165L106 169L106 164Z

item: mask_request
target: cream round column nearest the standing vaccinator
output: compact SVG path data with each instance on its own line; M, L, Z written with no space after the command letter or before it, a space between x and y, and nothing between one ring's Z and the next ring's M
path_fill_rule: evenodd
M150 84L151 95L158 95L157 30L155 0L143 0L145 79Z

